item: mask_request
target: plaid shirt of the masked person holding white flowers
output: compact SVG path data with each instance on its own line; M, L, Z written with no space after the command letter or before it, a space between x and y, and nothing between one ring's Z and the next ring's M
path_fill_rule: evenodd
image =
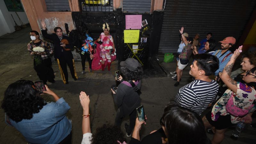
M36 44L33 43L33 41L28 43L28 52L30 55L41 55L42 59L50 58L50 54L52 54L53 49L50 47L50 45L45 42L44 40L41 40L41 44L38 46L44 48L44 52L34 52L33 48L37 47Z

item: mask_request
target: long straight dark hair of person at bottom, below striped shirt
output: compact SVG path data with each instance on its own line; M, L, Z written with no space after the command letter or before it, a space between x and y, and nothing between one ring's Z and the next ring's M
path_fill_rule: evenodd
M195 112L172 104L164 109L162 119L169 144L205 144L204 123Z

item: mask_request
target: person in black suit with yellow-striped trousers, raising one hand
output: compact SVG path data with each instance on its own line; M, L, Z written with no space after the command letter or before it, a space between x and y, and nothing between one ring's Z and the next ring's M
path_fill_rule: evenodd
M75 61L73 59L73 54L70 49L73 48L73 44L70 43L70 39L68 36L63 36L62 29L60 27L54 28L54 34L49 35L47 34L46 24L44 20L41 22L42 29L41 32L43 36L47 39L50 39L54 43L54 58L57 59L60 74L64 84L68 84L68 69L69 67L71 76L76 81L77 75L75 70ZM65 41L66 44L63 42Z

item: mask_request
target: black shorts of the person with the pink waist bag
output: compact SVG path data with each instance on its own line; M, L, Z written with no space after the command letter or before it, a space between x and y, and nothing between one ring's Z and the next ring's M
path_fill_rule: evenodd
M206 115L205 118L208 120L208 122L215 127L216 130L222 130L222 129L226 129L229 128L233 125L236 124L232 124L231 123L231 117L230 115L226 115L226 116L220 116L218 118L217 121L213 121L212 120L212 111L209 111Z

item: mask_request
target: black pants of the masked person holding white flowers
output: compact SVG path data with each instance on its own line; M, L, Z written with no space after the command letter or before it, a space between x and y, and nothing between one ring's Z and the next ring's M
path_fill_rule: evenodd
M41 59L42 60L42 59ZM46 82L54 82L54 72L52 69L52 60L51 58L44 59L40 64L36 64L34 59L34 69L36 70L37 76L41 81L46 84Z

